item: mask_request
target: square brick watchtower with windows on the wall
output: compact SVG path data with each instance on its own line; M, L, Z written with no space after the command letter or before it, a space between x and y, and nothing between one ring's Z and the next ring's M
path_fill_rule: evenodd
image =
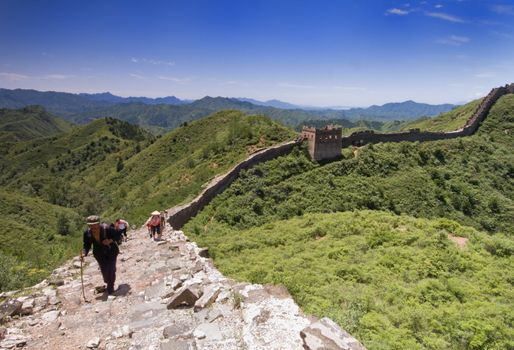
M341 157L342 134L343 129L333 125L321 129L304 126L302 129L302 138L309 142L309 154L316 161Z

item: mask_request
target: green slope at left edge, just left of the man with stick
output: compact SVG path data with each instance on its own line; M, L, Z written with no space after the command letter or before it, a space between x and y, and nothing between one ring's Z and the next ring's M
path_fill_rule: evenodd
M58 231L61 217L68 223L68 234ZM72 209L0 190L0 290L35 284L77 254L82 226Z

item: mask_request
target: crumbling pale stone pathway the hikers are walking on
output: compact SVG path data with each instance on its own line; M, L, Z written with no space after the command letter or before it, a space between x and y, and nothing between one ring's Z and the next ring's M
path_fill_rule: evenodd
M182 231L152 241L129 233L117 264L115 296L92 256L56 269L42 283L3 293L0 349L364 349L329 319L305 316L283 286L225 278ZM21 296L20 296L21 295Z

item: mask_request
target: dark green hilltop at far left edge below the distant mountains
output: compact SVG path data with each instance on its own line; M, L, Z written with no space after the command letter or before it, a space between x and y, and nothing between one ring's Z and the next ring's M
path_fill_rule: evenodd
M37 106L0 109L0 142L24 141L69 131L71 124Z

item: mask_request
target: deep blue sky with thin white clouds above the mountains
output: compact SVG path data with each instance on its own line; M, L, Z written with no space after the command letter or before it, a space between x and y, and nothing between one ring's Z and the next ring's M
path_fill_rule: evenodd
M0 0L0 87L366 106L514 81L514 0Z

